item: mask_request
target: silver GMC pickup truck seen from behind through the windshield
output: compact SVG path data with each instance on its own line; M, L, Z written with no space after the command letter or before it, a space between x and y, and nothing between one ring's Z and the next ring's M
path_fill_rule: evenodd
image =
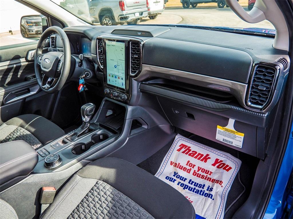
M147 0L90 0L89 9L101 25L138 24L148 16Z

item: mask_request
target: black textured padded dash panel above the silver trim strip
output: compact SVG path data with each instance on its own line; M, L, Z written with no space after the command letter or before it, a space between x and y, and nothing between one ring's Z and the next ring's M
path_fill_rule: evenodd
M237 49L153 38L143 45L142 63L248 83L253 60Z

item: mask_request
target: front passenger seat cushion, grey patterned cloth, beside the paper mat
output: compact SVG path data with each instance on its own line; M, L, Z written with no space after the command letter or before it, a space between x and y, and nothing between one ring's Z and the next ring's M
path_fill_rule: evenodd
M167 183L127 161L106 157L78 171L42 218L195 218L195 212Z

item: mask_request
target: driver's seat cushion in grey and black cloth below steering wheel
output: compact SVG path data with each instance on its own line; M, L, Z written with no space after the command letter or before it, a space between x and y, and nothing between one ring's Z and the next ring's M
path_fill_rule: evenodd
M38 150L64 134L59 126L48 119L25 114L9 119L0 126L0 143L23 140Z

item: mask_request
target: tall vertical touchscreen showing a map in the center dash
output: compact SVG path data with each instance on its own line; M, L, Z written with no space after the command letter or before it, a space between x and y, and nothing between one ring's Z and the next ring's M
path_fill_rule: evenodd
M107 84L125 90L125 42L105 40Z

